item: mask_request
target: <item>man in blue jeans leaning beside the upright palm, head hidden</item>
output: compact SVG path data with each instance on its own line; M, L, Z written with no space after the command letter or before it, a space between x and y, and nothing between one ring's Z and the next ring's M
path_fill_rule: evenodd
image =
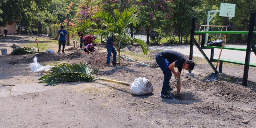
M116 62L116 49L117 51L119 52L116 44L114 43L115 41L115 37L113 36L108 36L107 38L107 42L106 42L106 48L107 48L107 51L108 51L108 55L107 55L107 66L110 66L110 56L111 56L111 52L113 53L113 61L112 63L113 64L118 64ZM116 47L116 49L114 48L114 46Z

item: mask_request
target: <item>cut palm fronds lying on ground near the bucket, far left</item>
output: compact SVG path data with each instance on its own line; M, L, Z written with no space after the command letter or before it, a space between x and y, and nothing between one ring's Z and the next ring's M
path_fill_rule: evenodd
M12 44L12 46L10 47L13 49L11 52L11 55L24 55L24 54L36 53L36 48L28 48L28 47L21 48L16 44Z

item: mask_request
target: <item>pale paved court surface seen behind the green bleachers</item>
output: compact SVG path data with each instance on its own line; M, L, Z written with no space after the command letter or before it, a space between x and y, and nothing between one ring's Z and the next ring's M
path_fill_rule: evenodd
M246 45L227 45L227 46L246 48ZM190 46L150 46L149 49L175 50L182 54L189 55ZM205 49L204 52L207 55L207 57L210 58L211 50ZM221 52L220 58L245 61L245 53L246 53L245 51L235 51L235 50L223 49ZM218 59L219 54L220 54L220 49L214 49L214 59ZM194 46L194 49L193 49L193 56L198 56L198 57L204 58L196 46ZM251 52L250 62L256 63L256 56L255 56L254 52Z

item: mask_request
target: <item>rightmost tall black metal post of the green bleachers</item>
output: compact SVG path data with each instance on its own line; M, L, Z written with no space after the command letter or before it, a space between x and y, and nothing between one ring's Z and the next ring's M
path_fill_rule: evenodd
M255 13L251 13L246 54L245 54L245 63L244 63L244 77L243 77L243 85L244 86L247 86L254 22L255 22Z

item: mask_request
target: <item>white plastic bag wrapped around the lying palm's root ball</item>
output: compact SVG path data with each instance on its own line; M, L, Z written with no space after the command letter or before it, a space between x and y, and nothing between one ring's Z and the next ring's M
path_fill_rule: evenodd
M145 77L136 78L134 82L130 84L130 89L134 95L147 95L154 91L152 84Z

